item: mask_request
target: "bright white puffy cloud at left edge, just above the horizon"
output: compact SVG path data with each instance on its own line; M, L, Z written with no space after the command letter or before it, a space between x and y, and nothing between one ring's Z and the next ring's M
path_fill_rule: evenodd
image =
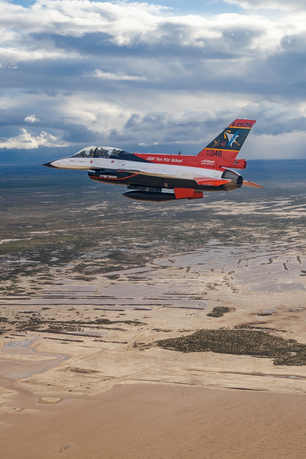
M68 144L57 139L54 135L42 131L39 135L33 135L26 129L21 129L22 134L10 137L9 139L0 138L0 148L30 150L39 146L67 146Z

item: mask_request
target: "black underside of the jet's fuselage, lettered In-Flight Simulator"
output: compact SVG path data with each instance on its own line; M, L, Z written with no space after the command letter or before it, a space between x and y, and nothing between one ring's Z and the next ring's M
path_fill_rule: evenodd
M88 172L89 178L98 183L112 185L126 185L137 189L138 187L150 188L193 188L195 191L228 191L224 185L203 186L198 185L195 180L175 179L137 174L137 172L125 172L111 169L103 171ZM238 188L234 186L234 188ZM157 190L156 190L157 191Z

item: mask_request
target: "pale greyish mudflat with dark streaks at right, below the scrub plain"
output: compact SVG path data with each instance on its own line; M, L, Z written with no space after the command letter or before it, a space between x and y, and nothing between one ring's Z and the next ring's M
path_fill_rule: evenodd
M255 246L216 246L211 244L188 254L178 254L156 264L181 266L193 272L219 271L231 274L234 285L250 286L250 291L305 290L301 282L306 257L302 251L284 242Z

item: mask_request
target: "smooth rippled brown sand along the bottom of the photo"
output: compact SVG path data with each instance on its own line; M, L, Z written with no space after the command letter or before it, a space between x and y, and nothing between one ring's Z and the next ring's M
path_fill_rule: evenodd
M38 406L39 414L2 415L1 458L301 459L306 455L304 395L133 385Z

